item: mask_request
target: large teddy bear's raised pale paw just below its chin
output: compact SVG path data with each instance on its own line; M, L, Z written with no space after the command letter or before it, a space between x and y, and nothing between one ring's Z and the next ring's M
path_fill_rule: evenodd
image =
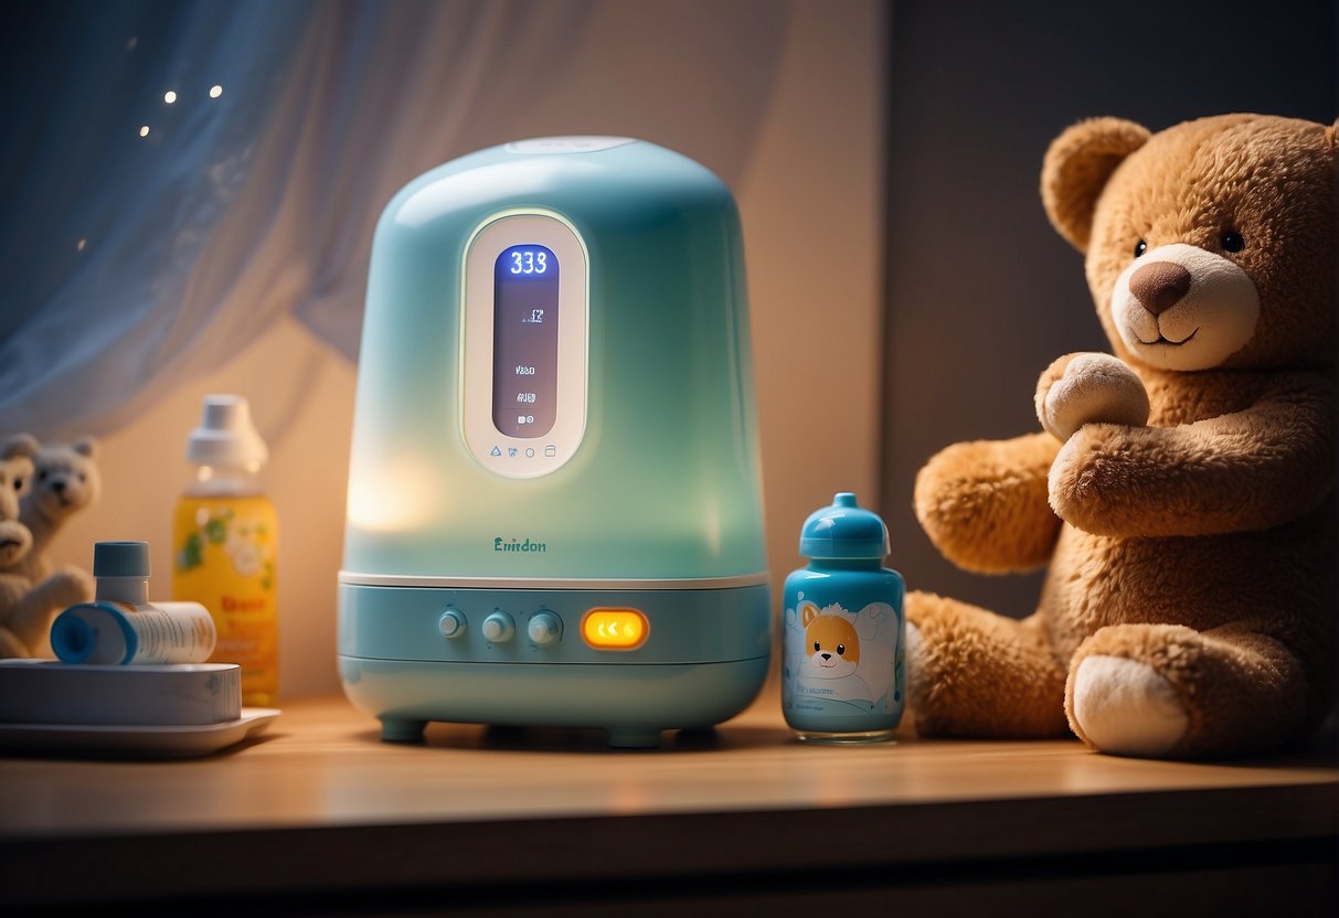
M1149 423L1144 381L1109 353L1066 355L1052 363L1038 380L1035 403L1042 427L1062 442L1083 424Z

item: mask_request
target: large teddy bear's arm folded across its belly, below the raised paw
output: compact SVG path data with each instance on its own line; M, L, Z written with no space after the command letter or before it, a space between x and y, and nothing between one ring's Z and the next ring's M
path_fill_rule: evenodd
M1332 395L1316 384L1177 427L1087 424L1055 459L1051 506L1098 535L1271 529L1314 510L1332 488Z

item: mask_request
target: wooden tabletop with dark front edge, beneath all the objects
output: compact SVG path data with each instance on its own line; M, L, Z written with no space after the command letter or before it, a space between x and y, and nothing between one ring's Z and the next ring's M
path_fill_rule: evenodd
M1264 843L1315 860L1336 835L1331 743L1192 764L1077 740L921 740L904 724L893 743L807 745L771 685L714 733L668 732L651 751L459 724L390 744L325 697L287 701L258 737L202 757L0 759L0 905L979 871Z

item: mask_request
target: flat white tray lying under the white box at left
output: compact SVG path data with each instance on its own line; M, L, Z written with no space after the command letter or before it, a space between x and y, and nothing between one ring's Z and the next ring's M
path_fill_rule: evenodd
M173 727L0 724L0 749L121 759L183 759L217 752L258 735L280 713L277 708L242 708L242 716L237 720Z

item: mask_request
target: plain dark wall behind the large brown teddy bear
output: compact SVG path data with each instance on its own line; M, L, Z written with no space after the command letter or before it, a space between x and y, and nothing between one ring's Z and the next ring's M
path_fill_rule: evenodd
M1332 122L1335 19L1332 0L894 0L881 511L909 587L1012 616L1036 601L1040 573L944 561L912 487L949 443L1038 430L1038 373L1109 349L1083 258L1042 210L1046 146L1094 115L1152 130L1232 111Z

